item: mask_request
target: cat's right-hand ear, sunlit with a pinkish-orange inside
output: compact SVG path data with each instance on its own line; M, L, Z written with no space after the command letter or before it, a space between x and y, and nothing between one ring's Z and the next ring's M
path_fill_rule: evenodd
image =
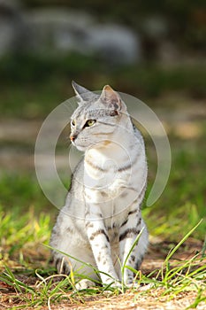
M109 108L117 113L123 109L125 110L124 103L122 102L118 93L114 89L111 89L110 85L104 86L100 98L104 104L106 104Z

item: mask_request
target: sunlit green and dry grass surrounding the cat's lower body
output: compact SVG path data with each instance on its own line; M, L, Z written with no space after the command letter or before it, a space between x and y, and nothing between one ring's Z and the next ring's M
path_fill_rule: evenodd
M125 297L122 305L131 302L131 298L134 304L140 305L142 300L142 305L145 305L146 298L146 303L154 303L156 309L165 303L178 302L180 297L187 299L185 308L195 308L202 303L205 305L206 178L202 170L205 154L202 138L200 136L194 142L181 141L176 136L171 136L172 173L167 188L154 206L143 209L150 235L170 241L169 244L164 244L163 249L156 249L156 252L160 251L160 257L164 258L165 253L166 257L162 261L162 267L149 267L143 274L137 271L136 283L140 285L140 289L131 288L126 291L123 285L122 290L126 291L123 295L119 295L118 290L105 291L101 287L75 291L75 273L65 276L60 282L56 281L55 270L50 265L50 251L43 244L49 242L57 210L43 197L34 176L4 174L0 182L3 193L0 207L2 305L11 309L41 309L43 306L51 309L58 305L60 308L65 305L88 305L88 308L92 308L106 302L103 300L111 300L117 306L121 296ZM202 147L196 146L194 151L195 143ZM147 145L151 178L156 166L149 141ZM194 182L194 179L201 182ZM165 203L167 205L164 209ZM201 219L203 221L195 227ZM188 252L190 247L186 242L188 235L199 243L202 241L202 246L189 258L186 255L182 259L179 253ZM177 260L174 260L176 254Z

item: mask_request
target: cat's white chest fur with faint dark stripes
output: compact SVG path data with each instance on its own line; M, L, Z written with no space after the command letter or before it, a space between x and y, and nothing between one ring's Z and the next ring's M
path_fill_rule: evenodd
M141 144L134 137L131 150L126 146L123 148L117 145L117 143L110 143L103 150L94 148L85 154L86 202L98 204L104 218L124 213L146 183L145 154L142 150L138 151Z

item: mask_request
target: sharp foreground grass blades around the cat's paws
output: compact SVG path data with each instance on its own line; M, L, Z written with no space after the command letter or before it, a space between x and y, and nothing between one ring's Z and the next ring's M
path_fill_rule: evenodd
M22 221L23 223L23 221ZM42 223L48 226L47 219L43 219ZM0 275L0 284L4 283L2 294L2 305L6 307L6 297L9 296L11 300L11 309L30 309L32 307L41 308L41 306L48 306L49 309L52 306L65 304L79 305L85 304L93 300L95 305L98 305L100 298L111 298L119 296L119 293L125 292L125 294L132 294L136 302L144 297L152 296L157 292L156 302L158 300L175 299L179 294L195 293L195 298L192 299L191 304L188 304L187 308L196 307L200 303L206 303L206 266L205 260L200 255L195 255L189 260L174 261L172 256L177 252L188 236L190 236L195 229L200 225L198 223L193 229L191 229L186 236L168 253L161 268L152 270L148 275L142 275L141 271L135 271L135 283L137 286L130 288L126 291L126 286L122 283L122 289L111 289L107 287L95 287L83 291L74 290L74 279L77 276L75 272L71 275L64 276L60 281L55 281L56 275L51 275L54 270L51 267L45 268L43 271L39 269L31 269L24 267L24 275L30 275L34 277L35 283L25 283L25 281L19 279L18 269L8 267L7 262L3 260L4 272ZM43 227L43 225L42 225ZM47 229L43 229L45 232L49 232ZM24 228L19 229L19 233L24 233ZM41 229L34 227L32 236L35 235L38 241L42 241ZM126 264L123 266L126 268ZM13 272L11 269L14 269ZM22 274L22 272L21 272ZM30 280L31 282L31 280ZM158 308L158 307L157 307Z

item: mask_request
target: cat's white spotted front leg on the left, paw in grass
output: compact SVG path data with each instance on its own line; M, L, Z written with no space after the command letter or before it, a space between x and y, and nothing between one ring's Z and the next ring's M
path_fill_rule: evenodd
M88 205L86 229L103 284L117 283L118 275L111 260L111 244L103 223L103 214L98 204Z

